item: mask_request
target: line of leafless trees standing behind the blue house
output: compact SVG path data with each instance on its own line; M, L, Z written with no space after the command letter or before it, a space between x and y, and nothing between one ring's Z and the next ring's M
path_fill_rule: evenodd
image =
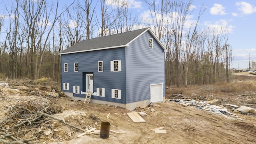
M166 85L231 82L232 46L226 28L199 28L192 0L144 0L150 17L138 18L126 1L51 0L1 3L2 78L50 77L60 82L62 50L90 38L150 27L167 48Z

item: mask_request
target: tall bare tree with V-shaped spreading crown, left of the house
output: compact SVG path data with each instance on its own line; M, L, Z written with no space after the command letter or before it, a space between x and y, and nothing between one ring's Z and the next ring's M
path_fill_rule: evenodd
M38 79L48 46L50 34L54 24L63 12L58 14L58 0L56 6L48 4L46 0L20 0L18 6L22 9L20 15L25 21L27 44L30 53L29 70L32 78ZM52 17L50 19L50 17ZM50 22L51 21L51 22Z

